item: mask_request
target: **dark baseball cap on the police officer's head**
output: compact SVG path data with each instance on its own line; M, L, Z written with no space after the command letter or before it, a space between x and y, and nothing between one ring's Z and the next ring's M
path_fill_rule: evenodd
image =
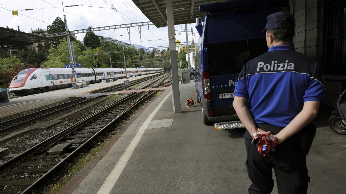
M285 20L293 21L293 25L283 26L282 22ZM267 31L267 29L294 28L294 23L295 23L294 17L292 16L290 12L279 11L279 12L272 13L267 17L267 24L265 25L265 29L262 31L261 35L265 35L265 32Z

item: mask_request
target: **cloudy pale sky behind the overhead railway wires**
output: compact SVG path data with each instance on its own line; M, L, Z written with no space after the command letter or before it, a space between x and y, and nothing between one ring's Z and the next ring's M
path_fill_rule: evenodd
M69 30L85 29L89 26L102 27L149 21L131 0L63 0L63 3L64 6L79 5L64 7ZM110 6L113 6L117 11L111 9ZM21 11L23 9L34 10ZM18 16L12 16L11 10L18 10ZM20 31L24 32L31 31L31 28L35 30L37 27L47 29L47 26L52 24L56 17L64 20L61 0L1 0L0 16L1 27L8 26L17 30L17 25L19 25ZM197 32L194 26L194 23L188 24L188 29L193 27L194 32ZM185 26L176 25L175 29L185 29ZM121 40L120 35L123 35L124 42L129 43L126 28L94 33L118 40ZM176 39L185 42L185 32L182 32L180 36L178 33L176 32ZM140 42L138 28L130 28L131 43L145 47L168 45L167 27L156 28L154 25L146 26L142 28L141 34L142 42ZM85 33L76 34L79 40L83 40L84 36ZM198 33L195 33L194 38L198 38ZM189 32L189 41L191 39L191 32Z

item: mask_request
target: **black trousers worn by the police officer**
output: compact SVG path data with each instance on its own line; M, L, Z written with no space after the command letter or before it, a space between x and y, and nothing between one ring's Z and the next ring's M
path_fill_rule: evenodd
M257 146L251 145L252 139L245 138L246 168L250 185L249 194L270 194L274 187L272 168L274 168L277 190L279 194L306 194L308 190L308 169L306 155L300 148L300 134L287 139L275 146L275 152L270 151L262 157Z

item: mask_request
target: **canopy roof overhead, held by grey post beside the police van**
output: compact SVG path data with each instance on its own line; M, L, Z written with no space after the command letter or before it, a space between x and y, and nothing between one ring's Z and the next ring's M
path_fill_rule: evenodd
M165 0L132 0L144 15L157 28L167 26ZM196 18L202 18L207 12L199 12L202 4L220 3L226 0L173 0L174 24L195 23Z

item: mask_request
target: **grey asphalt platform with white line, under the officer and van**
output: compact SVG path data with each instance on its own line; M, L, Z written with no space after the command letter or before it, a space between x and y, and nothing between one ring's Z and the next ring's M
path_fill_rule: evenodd
M58 193L248 193L245 129L204 125L200 104L184 106L192 95L191 84L180 84L182 113L173 113L171 89L162 92ZM346 136L329 128L330 111L322 106L316 118L317 134L307 156L308 193L344 193Z

